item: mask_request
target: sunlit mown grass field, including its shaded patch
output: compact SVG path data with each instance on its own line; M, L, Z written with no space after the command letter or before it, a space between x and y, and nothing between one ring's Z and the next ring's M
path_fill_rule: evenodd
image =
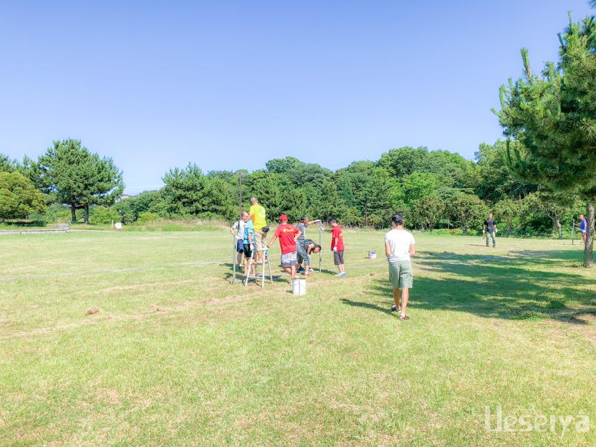
M581 246L416 237L400 322L380 232L305 296L230 283L225 231L1 236L0 445L595 445Z

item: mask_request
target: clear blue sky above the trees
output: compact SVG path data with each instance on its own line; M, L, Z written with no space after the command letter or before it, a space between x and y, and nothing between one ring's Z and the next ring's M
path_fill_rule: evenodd
M473 159L491 107L556 60L587 0L4 1L0 152L75 138L125 191L170 168L254 170L297 157L333 170L401 146Z

